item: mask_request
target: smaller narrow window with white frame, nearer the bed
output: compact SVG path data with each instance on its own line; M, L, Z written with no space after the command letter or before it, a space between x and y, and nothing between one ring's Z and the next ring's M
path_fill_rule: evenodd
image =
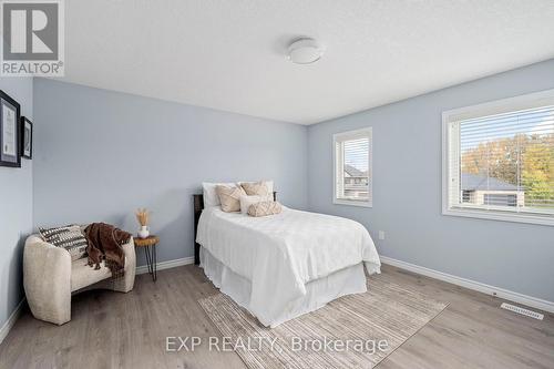
M334 203L371 206L371 127L335 134L334 144Z

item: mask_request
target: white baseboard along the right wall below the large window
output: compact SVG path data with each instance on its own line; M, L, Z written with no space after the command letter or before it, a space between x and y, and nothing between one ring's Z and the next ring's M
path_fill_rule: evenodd
M495 296L510 300L513 303L522 304L535 309L541 309L543 311L554 312L554 301L543 300L533 296L527 296L519 293L511 291L509 289L485 285L480 281L458 277L448 273L438 271L434 269L425 268L416 264L406 263L402 260L393 259L388 256L380 256L381 262L388 265L396 266L400 269L413 271L416 274L421 274L427 277L434 279L448 281L450 284L464 287L468 289L476 290L486 295Z

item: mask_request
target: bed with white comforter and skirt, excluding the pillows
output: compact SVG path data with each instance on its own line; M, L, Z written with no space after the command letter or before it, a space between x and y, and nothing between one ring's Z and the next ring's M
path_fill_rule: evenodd
M274 193L275 197L275 193ZM267 327L367 290L380 260L359 223L284 206L250 217L203 208L194 195L195 263L212 283Z

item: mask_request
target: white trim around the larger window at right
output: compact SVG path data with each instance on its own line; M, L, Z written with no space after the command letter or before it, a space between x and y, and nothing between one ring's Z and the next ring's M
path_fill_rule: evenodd
M442 113L442 214L470 218L493 219L503 222L529 223L554 226L554 216L512 213L509 211L481 211L466 207L451 207L449 204L449 124L454 120L465 120L483 115L501 114L510 111L532 109L554 102L554 89L521 96L509 98L483 104L464 106Z

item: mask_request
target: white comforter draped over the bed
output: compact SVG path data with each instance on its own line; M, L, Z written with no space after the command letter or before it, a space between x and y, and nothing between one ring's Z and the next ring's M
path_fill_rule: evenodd
M308 281L362 262L369 274L381 265L361 224L286 207L263 217L206 208L196 242L252 283L247 308L265 326L306 295Z

